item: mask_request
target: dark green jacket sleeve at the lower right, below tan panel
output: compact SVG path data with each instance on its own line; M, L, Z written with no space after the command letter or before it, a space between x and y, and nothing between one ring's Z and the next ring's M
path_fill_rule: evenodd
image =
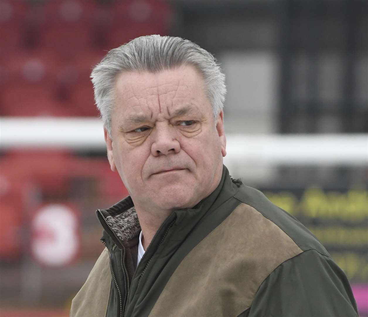
M247 316L356 317L344 272L331 258L308 250L283 262L259 287Z

